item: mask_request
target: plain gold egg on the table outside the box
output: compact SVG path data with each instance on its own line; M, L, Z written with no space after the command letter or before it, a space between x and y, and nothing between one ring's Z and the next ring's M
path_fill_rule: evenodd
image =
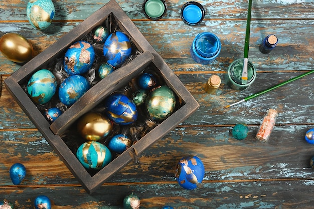
M16 63L24 63L33 58L32 44L16 33L7 33L0 37L0 52Z

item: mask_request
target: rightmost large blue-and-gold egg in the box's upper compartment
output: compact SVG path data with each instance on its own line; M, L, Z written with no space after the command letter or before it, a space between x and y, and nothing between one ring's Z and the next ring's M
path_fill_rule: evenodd
M114 68L120 67L132 53L131 42L123 32L117 31L108 36L103 47L107 63Z

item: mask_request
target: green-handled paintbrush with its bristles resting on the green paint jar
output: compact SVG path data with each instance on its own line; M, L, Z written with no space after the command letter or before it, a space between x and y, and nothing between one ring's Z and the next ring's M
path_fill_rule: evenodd
M247 20L246 20L245 43L244 43L242 84L247 83L247 63L248 63L249 46L250 46L251 10L252 10L252 0L249 0L249 7L247 11Z

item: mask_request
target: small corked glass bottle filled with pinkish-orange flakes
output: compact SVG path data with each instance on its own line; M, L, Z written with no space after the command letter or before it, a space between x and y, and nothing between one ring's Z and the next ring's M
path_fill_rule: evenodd
M267 115L264 117L262 124L256 134L256 139L262 142L268 142L270 134L275 127L276 117L278 113L274 109L269 109Z

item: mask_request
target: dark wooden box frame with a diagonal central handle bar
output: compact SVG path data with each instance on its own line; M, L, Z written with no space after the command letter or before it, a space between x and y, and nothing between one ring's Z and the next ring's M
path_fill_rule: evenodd
M50 124L26 94L22 85L27 82L30 76L37 70L45 68L57 57L63 57L65 51L71 44L86 36L96 26L101 25L109 15L114 16L120 30L130 37L141 54L127 65L115 70L108 77L94 85L74 105L67 109L61 115L62 117L60 116L56 121ZM96 174L91 175L90 172L81 165L75 154L73 154L60 136L81 115L92 110L92 108L99 104L111 92L123 87L123 85L127 84L149 65L154 66L157 71L156 73L163 79L164 83L175 92L181 102L180 107L129 149L116 157ZM147 147L164 137L199 107L199 104L192 97L190 92L180 82L161 56L148 43L115 0L111 0L96 11L57 42L23 65L4 82L6 88L23 111L89 194L100 187L110 176L127 165L133 159L134 154L140 155Z

